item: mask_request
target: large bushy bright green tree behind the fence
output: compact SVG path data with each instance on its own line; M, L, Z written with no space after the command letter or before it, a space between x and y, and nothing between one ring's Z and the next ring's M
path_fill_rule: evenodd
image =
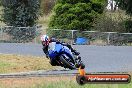
M103 13L105 0L57 0L49 27L66 30L90 30Z

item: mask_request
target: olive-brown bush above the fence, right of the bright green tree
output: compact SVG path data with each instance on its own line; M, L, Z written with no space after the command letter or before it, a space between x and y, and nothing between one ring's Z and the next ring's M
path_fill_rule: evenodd
M105 11L104 14L96 20L94 30L101 32L126 32L124 21L129 16L124 11L115 12Z

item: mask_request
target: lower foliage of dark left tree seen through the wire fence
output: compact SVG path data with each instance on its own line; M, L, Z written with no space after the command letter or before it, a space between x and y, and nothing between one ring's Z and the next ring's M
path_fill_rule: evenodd
M19 28L19 27L10 27L9 30L6 30L6 33L12 36L11 42L17 43L26 43L31 42L36 35L36 27L27 27L27 28Z

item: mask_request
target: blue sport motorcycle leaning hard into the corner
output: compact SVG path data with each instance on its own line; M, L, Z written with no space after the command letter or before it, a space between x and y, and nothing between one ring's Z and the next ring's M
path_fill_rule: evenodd
M85 68L80 56L75 55L67 46L62 44L52 44L52 49L48 51L50 59L54 59L57 64L64 68L76 69L80 66Z

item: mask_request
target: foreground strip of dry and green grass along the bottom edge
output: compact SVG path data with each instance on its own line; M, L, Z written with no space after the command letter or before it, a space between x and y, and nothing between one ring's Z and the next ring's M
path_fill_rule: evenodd
M129 84L85 84L78 85L76 77L35 77L35 78L13 78L0 79L0 88L132 88Z

